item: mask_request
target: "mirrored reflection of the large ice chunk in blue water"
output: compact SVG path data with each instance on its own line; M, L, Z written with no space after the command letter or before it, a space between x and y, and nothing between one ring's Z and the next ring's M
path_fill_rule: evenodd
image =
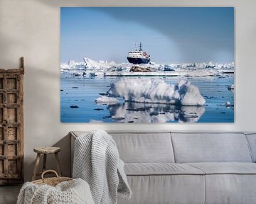
M112 119L122 123L195 123L205 113L203 106L134 102L109 105L108 110Z

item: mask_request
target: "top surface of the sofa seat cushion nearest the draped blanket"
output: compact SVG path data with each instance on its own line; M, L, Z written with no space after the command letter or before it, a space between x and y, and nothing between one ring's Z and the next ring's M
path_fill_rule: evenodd
M127 163L124 166L127 175L179 175L179 174L198 174L204 172L188 164L174 163Z

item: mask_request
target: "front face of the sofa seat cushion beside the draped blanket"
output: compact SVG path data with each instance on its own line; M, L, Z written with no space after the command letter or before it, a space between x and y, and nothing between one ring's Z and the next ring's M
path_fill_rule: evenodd
M132 198L118 204L204 204L205 175L127 176Z

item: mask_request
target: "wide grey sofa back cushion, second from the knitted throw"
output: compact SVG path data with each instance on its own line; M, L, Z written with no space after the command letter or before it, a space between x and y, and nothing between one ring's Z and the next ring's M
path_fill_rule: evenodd
M177 163L252 162L243 133L171 132Z

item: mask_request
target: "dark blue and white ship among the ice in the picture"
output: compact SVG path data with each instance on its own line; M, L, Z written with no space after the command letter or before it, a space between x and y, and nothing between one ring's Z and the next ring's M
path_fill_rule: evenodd
M135 49L130 51L127 60L132 64L147 64L150 62L150 55L142 50L142 42L135 44Z

